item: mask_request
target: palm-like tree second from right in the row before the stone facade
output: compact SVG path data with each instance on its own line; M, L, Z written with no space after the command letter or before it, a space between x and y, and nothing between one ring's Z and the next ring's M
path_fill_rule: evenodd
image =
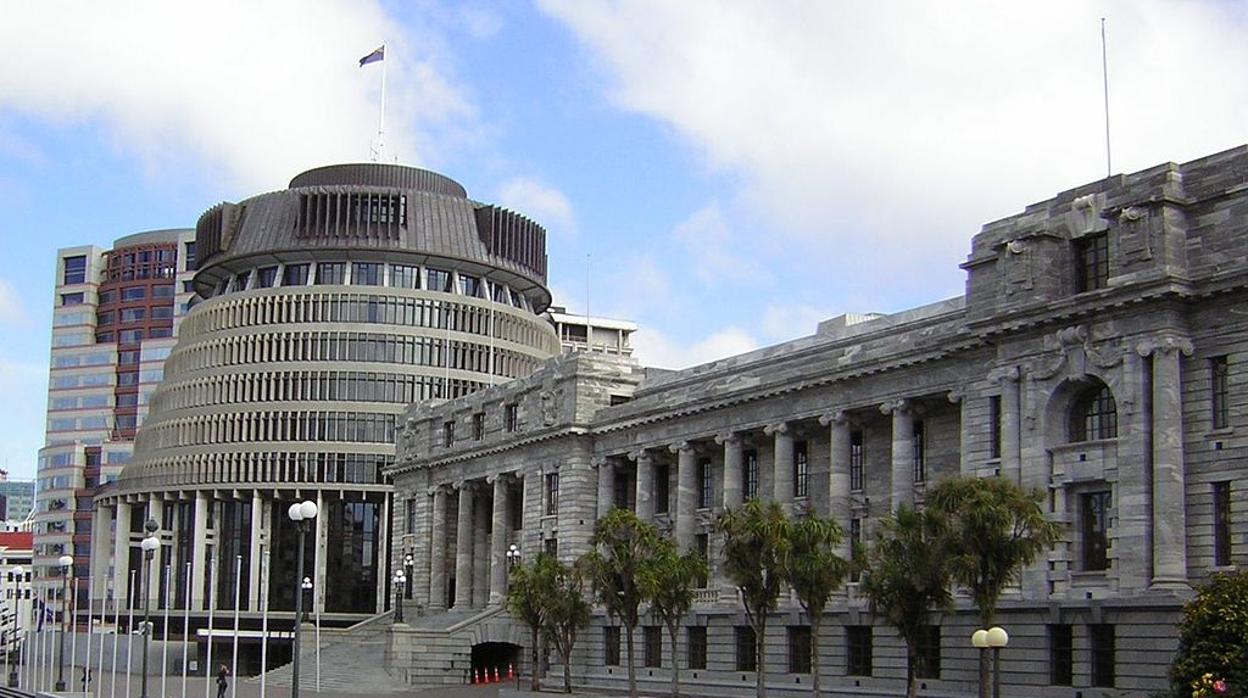
M872 613L880 613L906 643L906 696L919 696L915 666L932 607L952 602L942 517L906 504L880 522L860 583Z

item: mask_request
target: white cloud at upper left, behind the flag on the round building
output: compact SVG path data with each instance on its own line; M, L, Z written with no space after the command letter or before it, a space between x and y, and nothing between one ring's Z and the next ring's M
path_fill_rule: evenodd
M421 27L372 1L25 2L0 22L0 110L100 124L152 174L187 162L243 191L368 157L387 42L387 151L437 159L475 114ZM310 49L314 47L314 49Z

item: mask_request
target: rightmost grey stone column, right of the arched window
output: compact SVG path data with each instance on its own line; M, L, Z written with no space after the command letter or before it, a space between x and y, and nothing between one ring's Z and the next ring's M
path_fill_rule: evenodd
M1183 355L1192 343L1163 337L1141 347L1153 356L1153 587L1187 586L1187 506L1183 482Z

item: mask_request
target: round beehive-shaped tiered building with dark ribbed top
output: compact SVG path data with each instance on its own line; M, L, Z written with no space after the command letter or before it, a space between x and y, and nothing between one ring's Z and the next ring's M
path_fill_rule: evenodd
M170 567L168 601L188 601L192 624L237 593L248 627L263 598L288 626L300 581L286 512L311 499L311 609L377 613L389 583L382 469L404 406L527 376L559 350L542 317L545 231L434 172L337 165L208 210L196 242L196 303L134 462L96 499L92 593L135 599L154 518L166 543L155 569Z

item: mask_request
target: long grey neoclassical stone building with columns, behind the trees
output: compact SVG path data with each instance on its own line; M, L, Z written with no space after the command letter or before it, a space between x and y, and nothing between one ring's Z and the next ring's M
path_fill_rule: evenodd
M392 553L418 618L396 626L397 661L427 679L488 661L473 644L527 642L498 609L509 547L572 562L622 506L711 563L679 642L683 681L751 691L758 639L773 688L802 689L807 619L784 599L769 637L753 637L718 571L718 516L770 498L867 541L899 503L970 474L1041 489L1065 531L1002 601L1008 694L1162 688L1192 586L1248 562L1248 147L1028 206L983 226L962 268L961 297L836 317L705 366L559 357L409 408L387 469ZM963 597L932 614L932 694L972 691L973 628ZM901 684L902 646L854 582L822 632L825 686ZM639 629L640 677L656 689L666 643ZM597 616L577 682L622 686L622 647Z

